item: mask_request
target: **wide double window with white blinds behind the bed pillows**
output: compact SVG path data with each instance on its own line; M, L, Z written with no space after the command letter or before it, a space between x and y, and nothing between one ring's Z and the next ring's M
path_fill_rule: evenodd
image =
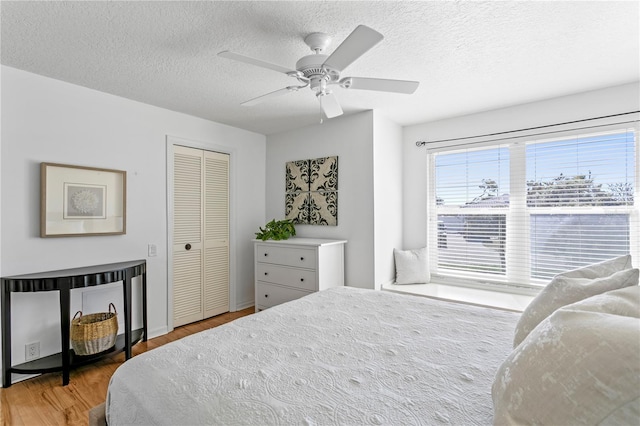
M637 132L429 154L433 276L539 286L631 253L637 262Z

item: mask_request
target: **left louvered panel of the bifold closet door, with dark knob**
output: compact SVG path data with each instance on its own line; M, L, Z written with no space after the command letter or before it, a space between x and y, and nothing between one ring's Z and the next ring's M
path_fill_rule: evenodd
M173 154L173 326L203 318L203 152L174 146Z

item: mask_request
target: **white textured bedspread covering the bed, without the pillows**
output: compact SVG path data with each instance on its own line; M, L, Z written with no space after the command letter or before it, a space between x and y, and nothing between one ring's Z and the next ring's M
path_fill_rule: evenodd
M336 288L138 355L110 426L492 423L518 314Z

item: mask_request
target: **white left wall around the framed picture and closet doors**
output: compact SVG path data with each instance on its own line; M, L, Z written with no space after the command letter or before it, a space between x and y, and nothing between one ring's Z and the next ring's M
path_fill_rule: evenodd
M147 244L156 244L158 256L147 258L149 334L164 333L166 135L229 147L235 156L235 296L237 306L252 305L250 240L265 217L264 135L9 67L2 67L2 275L147 258ZM126 235L40 238L40 162L126 170ZM73 293L75 312L82 306L82 294ZM108 302L104 301L105 309ZM26 343L40 341L43 356L59 351L57 294L14 293L12 318L13 364L24 360Z

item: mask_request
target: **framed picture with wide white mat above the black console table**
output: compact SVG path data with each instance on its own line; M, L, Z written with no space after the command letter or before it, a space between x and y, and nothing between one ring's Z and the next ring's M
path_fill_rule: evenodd
M40 163L40 236L126 233L127 172Z

